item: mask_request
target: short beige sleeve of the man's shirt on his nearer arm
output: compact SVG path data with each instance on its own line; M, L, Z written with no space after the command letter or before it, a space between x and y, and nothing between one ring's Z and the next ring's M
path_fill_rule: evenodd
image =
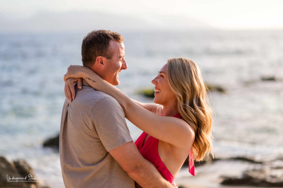
M95 104L91 121L96 134L108 152L133 141L125 120L125 113L113 97L106 97Z

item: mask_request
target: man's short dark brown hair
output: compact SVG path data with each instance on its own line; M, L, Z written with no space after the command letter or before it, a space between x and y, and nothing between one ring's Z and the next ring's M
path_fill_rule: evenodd
M123 42L121 34L107 30L93 30L89 32L82 43L82 62L83 66L91 68L97 56L103 56L106 59L112 59L113 51L109 50L109 42Z

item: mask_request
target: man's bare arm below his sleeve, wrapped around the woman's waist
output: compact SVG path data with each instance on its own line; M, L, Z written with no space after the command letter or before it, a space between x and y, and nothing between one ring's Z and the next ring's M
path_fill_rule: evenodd
M127 142L109 153L141 187L173 188L170 182L161 176L156 167L141 156L133 141Z

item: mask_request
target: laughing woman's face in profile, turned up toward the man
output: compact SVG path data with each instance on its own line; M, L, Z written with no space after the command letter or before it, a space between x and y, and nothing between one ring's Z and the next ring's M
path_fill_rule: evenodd
M154 103L167 106L168 104L177 101L175 94L169 86L167 63L160 69L158 76L156 76L151 83L155 85Z

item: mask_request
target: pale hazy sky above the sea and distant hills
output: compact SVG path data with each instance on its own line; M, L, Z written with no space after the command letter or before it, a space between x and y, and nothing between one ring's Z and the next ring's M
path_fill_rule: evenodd
M99 13L112 16L111 19L117 18L115 21L117 25L119 23L122 25L125 18L135 19L138 20L137 22L145 23L147 26L144 28L159 24L158 28L262 30L283 29L282 7L283 0L0 0L0 19L6 24L2 27L13 29L20 21L30 22L32 18L34 20L42 13L48 14L45 17L52 17L50 16L52 14L57 18L63 15L68 17L71 13L81 15ZM179 23L168 21L170 17L176 18ZM190 20L187 25L191 27L183 26L184 19ZM53 21L49 20L49 22ZM57 22L56 24L60 25L59 21ZM61 22L66 20L62 19ZM37 24L34 22L33 25ZM140 27L137 26L137 29ZM126 27L129 28L130 26Z

